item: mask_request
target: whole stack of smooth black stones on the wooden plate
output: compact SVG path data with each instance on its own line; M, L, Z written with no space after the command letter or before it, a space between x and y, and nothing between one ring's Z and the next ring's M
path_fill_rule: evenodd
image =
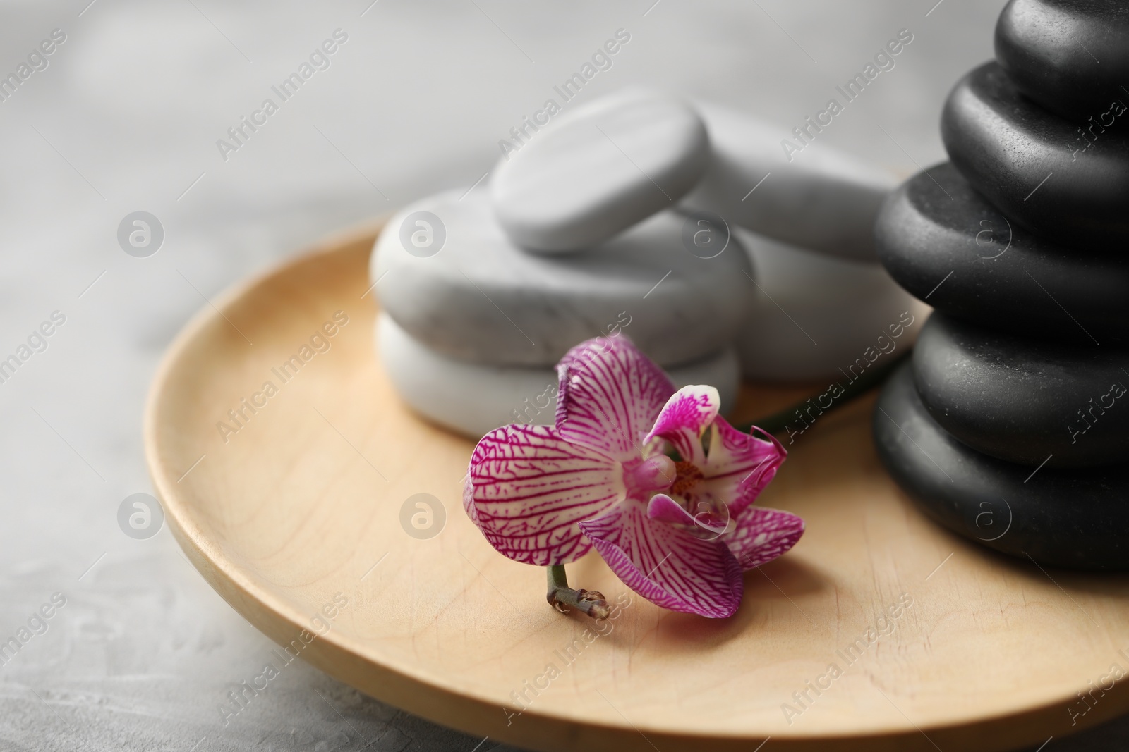
M878 453L960 534L1129 569L1129 3L1008 2L942 135L952 162L876 227L935 308L878 400Z

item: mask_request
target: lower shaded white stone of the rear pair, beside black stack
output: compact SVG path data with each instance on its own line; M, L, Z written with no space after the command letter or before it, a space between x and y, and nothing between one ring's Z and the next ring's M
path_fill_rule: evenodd
M735 342L745 380L846 383L844 372L851 378L865 370L850 370L857 359L877 364L905 352L931 310L877 264L831 258L744 230L737 235L761 286ZM882 348L890 354L875 355Z

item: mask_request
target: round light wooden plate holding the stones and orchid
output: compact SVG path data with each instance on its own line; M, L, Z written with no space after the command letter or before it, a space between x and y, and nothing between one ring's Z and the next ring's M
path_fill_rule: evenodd
M746 575L736 616L628 601L595 554L569 566L574 586L628 605L598 632L557 613L544 570L502 558L466 519L471 442L409 413L376 360L376 231L203 310L146 416L181 546L292 653L411 713L540 750L752 751L769 737L765 752L1003 750L1129 709L1114 685L1129 674L1129 581L1043 572L928 522L878 465L873 400L789 448L762 503L804 516L807 533ZM739 412L800 393L746 387ZM415 494L446 512L434 537L401 524Z

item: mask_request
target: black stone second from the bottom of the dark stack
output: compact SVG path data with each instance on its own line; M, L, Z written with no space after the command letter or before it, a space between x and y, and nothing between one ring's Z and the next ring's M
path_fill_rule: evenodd
M1129 462L1129 351L934 313L913 348L913 375L934 419L977 451L1060 468Z

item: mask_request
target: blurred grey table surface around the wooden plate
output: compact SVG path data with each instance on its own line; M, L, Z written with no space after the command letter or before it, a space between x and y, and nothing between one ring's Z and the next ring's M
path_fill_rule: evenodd
M271 642L167 529L135 540L117 522L126 496L151 493L141 414L170 338L318 237L473 184L499 139L619 28L630 43L583 97L658 85L779 121L781 138L908 28L895 68L820 139L904 172L937 162L944 97L991 55L1001 5L6 0L0 74L54 29L65 38L0 101L0 357L54 311L65 322L0 383L0 637L53 593L65 605L0 665L0 747L499 749L301 662L222 723ZM348 38L327 68L220 149L335 29ZM139 210L165 235L147 258L117 241ZM1043 749L1127 740L1122 719Z

